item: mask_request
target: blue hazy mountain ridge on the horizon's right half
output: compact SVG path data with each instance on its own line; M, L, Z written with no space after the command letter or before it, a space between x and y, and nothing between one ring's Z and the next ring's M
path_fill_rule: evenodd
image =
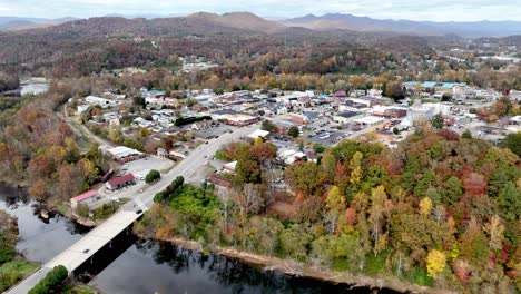
M346 29L354 31L389 31L419 36L456 35L466 38L503 37L521 35L521 21L473 21L473 22L434 22L413 20L379 20L353 14L308 14L283 21L289 27L303 27L313 30Z

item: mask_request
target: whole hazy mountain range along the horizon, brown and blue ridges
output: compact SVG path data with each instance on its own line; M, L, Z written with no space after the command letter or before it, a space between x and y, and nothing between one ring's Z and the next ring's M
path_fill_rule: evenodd
M372 32L386 35L412 35L412 36L445 36L450 38L481 38L481 37L504 37L521 35L521 21L475 21L475 22L433 22L412 20L379 20L367 17L355 17L352 14L325 14L317 17L308 14L302 18L287 20L267 20L249 12L232 12L216 14L208 12L197 12L186 17L169 14L109 14L104 18L124 18L136 22L146 20L171 21L175 26L180 20L205 27L214 24L216 28L225 27L238 30L249 30L256 32L277 33L288 30L288 28L302 28L317 31L352 31ZM98 19L98 18L96 18ZM45 28L61 24L67 21L77 20L73 18L43 19L43 18L12 18L0 17L0 30L22 30L33 28ZM148 23L150 24L150 23Z

